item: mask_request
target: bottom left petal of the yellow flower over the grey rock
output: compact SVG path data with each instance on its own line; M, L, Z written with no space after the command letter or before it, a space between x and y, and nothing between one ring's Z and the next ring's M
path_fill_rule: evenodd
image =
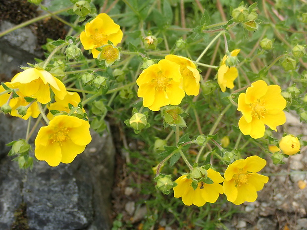
M47 161L52 167L58 166L62 158L61 148L56 142L47 146L35 145L35 157L40 161Z

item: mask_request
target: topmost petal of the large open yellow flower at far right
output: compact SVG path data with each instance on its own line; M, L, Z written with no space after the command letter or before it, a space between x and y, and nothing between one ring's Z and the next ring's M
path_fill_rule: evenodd
M259 80L252 83L252 86L247 88L245 102L247 104L255 103L260 97L267 92L267 84L265 81Z

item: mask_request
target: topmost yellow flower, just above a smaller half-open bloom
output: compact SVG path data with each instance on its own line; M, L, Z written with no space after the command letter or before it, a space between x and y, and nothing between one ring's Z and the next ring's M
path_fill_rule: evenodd
M92 49L94 58L100 51L96 48L107 45L108 41L117 46L123 38L119 25L105 13L97 15L95 19L85 25L85 31L80 34L80 41L85 49Z

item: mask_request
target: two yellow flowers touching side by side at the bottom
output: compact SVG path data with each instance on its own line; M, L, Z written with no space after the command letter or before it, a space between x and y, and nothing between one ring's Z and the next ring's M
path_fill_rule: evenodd
M196 206L203 206L206 202L214 203L219 194L223 193L228 201L237 205L245 201L254 202L257 198L257 191L268 182L268 177L257 174L265 164L266 161L258 156L236 160L228 165L224 173L225 179L219 172L208 169L207 177L212 183L198 183L196 189L192 186L192 179L183 175L175 181L177 185L173 188L174 197L181 197L185 205L194 204Z

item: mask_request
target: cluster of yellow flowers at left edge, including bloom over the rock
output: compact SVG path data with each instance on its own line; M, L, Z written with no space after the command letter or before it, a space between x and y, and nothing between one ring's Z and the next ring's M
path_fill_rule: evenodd
M51 92L55 102L51 102ZM0 106L12 116L27 120L30 116L45 116L41 104L47 104L50 111L69 113L69 104L77 106L80 96L76 92L67 92L64 84L46 70L28 68L16 74L11 82L0 86ZM8 109L9 108L9 109ZM83 110L83 112L85 112ZM45 160L50 166L60 162L70 163L77 154L83 152L91 141L88 121L75 116L47 116L51 121L42 127L35 139L35 156ZM48 119L46 118L48 123Z

